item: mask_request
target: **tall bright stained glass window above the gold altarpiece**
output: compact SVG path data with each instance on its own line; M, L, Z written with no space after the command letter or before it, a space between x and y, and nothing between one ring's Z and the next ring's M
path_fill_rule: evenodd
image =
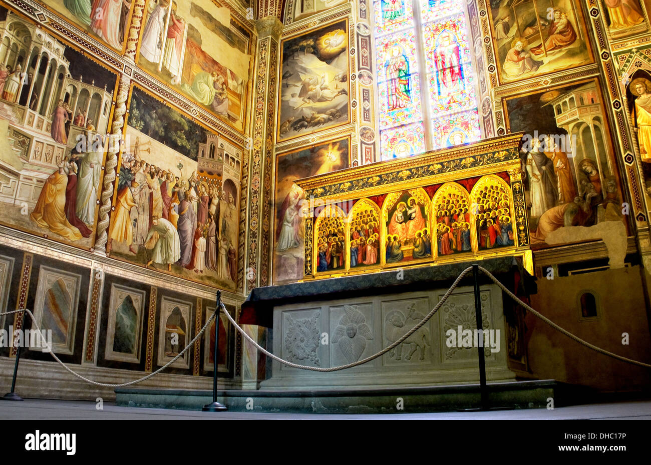
M478 140L462 0L376 0L374 10L381 159Z

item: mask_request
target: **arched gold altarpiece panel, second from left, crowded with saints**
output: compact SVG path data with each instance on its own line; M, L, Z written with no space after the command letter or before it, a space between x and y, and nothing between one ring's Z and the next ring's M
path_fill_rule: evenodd
M362 199L348 217L350 269L380 265L380 207Z

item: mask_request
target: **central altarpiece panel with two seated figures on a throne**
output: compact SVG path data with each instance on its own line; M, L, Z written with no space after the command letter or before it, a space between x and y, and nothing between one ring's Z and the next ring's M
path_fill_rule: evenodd
M430 198L424 189L389 194L382 206L382 219L384 263L432 257Z

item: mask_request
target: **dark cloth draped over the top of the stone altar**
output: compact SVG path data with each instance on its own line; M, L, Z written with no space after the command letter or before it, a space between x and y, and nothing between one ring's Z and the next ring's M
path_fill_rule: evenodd
M473 263L490 271L516 295L536 293L535 278L524 269L521 258L497 257L411 269L396 268L391 271L316 279L280 286L256 287L242 304L240 325L271 328L273 308L284 304L449 287L457 276ZM480 273L480 283L488 284L488 282L490 279ZM472 283L473 274L469 273L460 285L471 286Z

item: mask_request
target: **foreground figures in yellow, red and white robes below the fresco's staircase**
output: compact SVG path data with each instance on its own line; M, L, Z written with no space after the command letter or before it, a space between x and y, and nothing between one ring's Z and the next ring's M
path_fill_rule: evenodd
M38 196L30 218L69 241L90 237L95 223L102 153L77 153L59 161Z

